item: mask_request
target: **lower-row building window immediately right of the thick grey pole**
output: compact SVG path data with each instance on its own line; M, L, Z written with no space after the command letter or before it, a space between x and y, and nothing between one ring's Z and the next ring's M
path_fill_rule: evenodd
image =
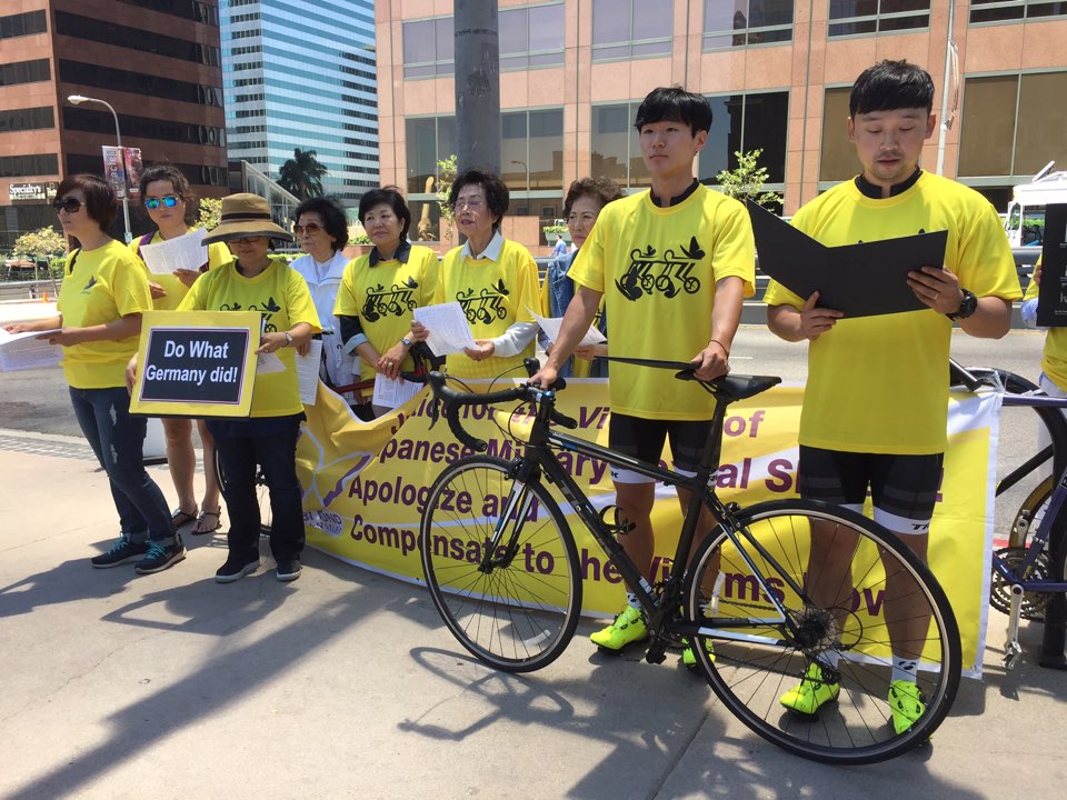
M500 138L500 177L508 189L562 190L562 109L503 112Z

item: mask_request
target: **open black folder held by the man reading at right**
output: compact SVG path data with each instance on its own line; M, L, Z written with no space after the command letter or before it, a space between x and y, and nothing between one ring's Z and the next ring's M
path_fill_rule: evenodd
M948 231L826 247L751 200L747 206L759 269L798 297L818 291L819 308L846 318L929 308L908 286L908 272L944 266Z

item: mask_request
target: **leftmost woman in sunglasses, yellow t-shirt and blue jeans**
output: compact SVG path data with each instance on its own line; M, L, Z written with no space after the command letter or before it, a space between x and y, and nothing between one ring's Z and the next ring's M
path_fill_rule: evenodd
M91 559L97 568L136 561L139 573L160 572L186 557L162 491L144 470L146 420L130 416L124 371L137 352L141 314L152 308L144 269L108 236L118 207L97 176L66 178L53 204L63 232L80 247L67 257L59 316L8 326L11 332L51 331L63 348L63 372L78 424L108 474L120 537Z

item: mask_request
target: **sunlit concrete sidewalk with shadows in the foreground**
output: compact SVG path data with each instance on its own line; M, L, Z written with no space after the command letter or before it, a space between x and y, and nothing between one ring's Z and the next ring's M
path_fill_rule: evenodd
M1067 778L1067 673L1035 666L1031 627L1006 676L996 612L986 678L931 747L830 768L749 733L676 657L596 654L589 622L516 677L472 661L422 588L322 553L290 584L266 544L259 572L215 583L222 536L156 576L93 570L117 530L96 464L8 436L0 474L2 798L964 800Z

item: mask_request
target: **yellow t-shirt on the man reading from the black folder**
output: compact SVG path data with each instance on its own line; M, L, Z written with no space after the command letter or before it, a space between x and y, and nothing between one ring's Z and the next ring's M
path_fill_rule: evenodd
M830 247L947 230L945 267L961 288L979 298L1021 296L993 206L929 172L881 200L864 196L855 181L840 183L801 208L792 223ZM764 300L804 306L775 281ZM944 452L951 330L951 320L933 309L838 320L808 348L800 443L845 452Z

